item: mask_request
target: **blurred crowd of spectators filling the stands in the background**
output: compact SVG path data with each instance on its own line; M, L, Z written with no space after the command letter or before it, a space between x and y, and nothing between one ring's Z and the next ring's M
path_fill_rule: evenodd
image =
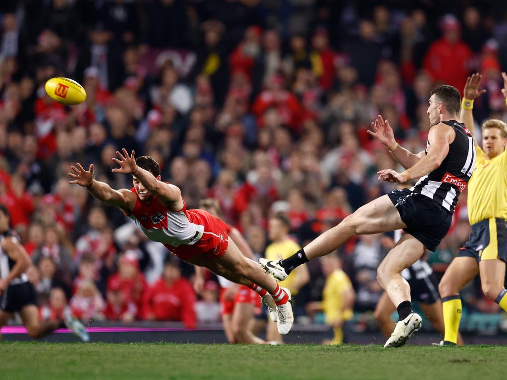
M188 327L220 318L214 278L194 294L190 265L69 185L70 165L93 163L98 179L131 188L131 176L111 172L115 151L150 155L188 208L218 200L263 256L270 216L286 215L304 246L393 189L375 174L396 168L366 132L377 115L421 151L429 92L462 91L479 71L488 92L476 121L506 120L501 67L507 8L494 0L3 0L0 202L33 260L41 318L65 308L83 320ZM44 84L56 76L79 81L86 101L51 100ZM427 257L437 275L469 231L464 192L451 232ZM378 300L389 245L389 235L361 236L339 251L357 313ZM308 269L300 321L325 282L318 260ZM464 301L468 311L499 310L477 283Z

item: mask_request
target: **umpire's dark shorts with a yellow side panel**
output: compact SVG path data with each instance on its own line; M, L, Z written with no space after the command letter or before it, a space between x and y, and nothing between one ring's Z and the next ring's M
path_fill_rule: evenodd
M505 219L490 218L472 224L470 238L463 245L457 257L474 257L481 260L507 262L507 222Z

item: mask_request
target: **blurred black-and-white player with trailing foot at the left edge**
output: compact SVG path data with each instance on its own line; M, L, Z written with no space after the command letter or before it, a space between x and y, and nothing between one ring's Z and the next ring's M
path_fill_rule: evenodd
M0 204L0 328L14 313L19 313L27 333L34 339L56 330L61 322L39 321L39 309L33 285L28 281L25 271L31 260L23 246L9 229L9 212ZM82 340L89 340L84 326L68 315L65 323ZM0 335L0 338L2 335Z

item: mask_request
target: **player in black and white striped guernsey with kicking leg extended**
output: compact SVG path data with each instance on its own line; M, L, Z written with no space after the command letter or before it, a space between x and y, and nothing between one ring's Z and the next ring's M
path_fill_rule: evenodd
M426 248L434 251L447 234L458 196L474 169L474 140L456 121L460 100L459 91L452 86L431 91L428 141L426 149L416 155L396 143L389 123L379 115L372 123L374 132L369 132L406 170L380 170L378 179L403 183L420 178L419 181L414 187L395 190L360 207L287 259L261 259L266 271L283 280L299 265L333 252L354 235L403 229L405 234L377 270L379 284L398 312L398 322L384 347L403 346L420 328L421 316L412 310L410 286L401 272L417 261Z

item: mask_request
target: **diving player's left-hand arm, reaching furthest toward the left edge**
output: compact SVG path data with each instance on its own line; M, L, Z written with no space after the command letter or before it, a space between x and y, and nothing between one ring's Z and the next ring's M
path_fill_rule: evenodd
M121 188L119 190L113 189L107 183L101 182L93 178L93 164L90 164L88 170L78 162L76 166L71 166L70 169L74 173L68 173L69 177L74 178L69 181L70 184L78 184L86 187L86 189L98 200L107 203L108 205L121 208L126 213L130 213L135 206L136 196L129 189Z

